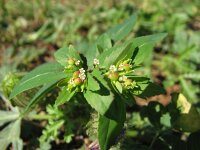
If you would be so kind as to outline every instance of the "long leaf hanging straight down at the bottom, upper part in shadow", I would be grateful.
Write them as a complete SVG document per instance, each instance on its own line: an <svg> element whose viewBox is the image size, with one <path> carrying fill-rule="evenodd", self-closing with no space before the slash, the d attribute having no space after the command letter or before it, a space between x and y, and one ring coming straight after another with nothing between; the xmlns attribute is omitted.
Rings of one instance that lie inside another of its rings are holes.
<svg viewBox="0 0 200 150"><path fill-rule="evenodd" d="M98 140L101 150L108 150L119 140L126 118L125 105L122 99L116 96L110 112L114 112L115 120L99 115Z"/></svg>

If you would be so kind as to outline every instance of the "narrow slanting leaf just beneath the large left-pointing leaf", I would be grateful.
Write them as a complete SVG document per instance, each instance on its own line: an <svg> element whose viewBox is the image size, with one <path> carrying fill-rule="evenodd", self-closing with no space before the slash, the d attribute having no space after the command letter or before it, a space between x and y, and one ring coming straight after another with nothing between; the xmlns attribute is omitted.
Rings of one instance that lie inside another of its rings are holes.
<svg viewBox="0 0 200 150"><path fill-rule="evenodd" d="M28 105L26 106L25 110L24 110L24 114L29 112L30 109L35 105L37 104L41 98L47 94L48 92L50 92L57 84L57 81L55 82L52 82L52 83L49 83L49 84L46 84L44 85L36 94L35 96L30 100L30 102L28 103Z"/></svg>

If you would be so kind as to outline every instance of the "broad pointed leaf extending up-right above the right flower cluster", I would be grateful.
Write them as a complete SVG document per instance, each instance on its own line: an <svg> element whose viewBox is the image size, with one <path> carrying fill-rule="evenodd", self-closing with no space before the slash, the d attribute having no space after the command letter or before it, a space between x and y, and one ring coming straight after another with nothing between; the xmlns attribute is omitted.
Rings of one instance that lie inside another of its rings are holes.
<svg viewBox="0 0 200 150"><path fill-rule="evenodd" d="M134 56L134 62L136 64L141 64L149 57L153 46L165 36L165 33L154 34L134 38L121 45L115 45L98 56L100 65L109 67L112 64L116 64L121 59L128 59L136 54L137 55ZM135 52L135 49L139 49L137 53Z"/></svg>

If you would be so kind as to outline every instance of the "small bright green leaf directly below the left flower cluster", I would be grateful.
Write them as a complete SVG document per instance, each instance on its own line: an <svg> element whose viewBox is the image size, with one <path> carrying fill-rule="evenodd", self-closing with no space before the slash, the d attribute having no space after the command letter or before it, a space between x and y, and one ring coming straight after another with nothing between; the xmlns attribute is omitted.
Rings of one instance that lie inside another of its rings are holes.
<svg viewBox="0 0 200 150"><path fill-rule="evenodd" d="M61 90L61 92L59 93L59 95L56 99L55 105L59 106L59 105L62 105L64 103L68 102L74 96L75 93L76 93L76 90L68 91L67 87L64 87Z"/></svg>

